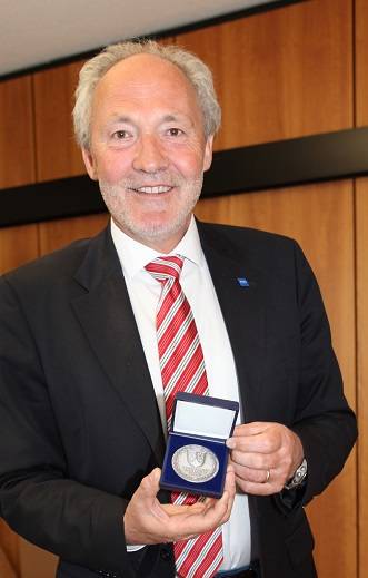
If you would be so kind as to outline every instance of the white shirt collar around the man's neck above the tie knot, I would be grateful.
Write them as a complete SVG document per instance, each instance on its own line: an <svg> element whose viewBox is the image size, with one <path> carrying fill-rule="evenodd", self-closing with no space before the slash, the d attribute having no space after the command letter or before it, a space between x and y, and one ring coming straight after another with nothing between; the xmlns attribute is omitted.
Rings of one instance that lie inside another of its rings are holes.
<svg viewBox="0 0 368 578"><path fill-rule="evenodd" d="M156 257L165 255L165 253L158 253L147 245L129 237L129 235L123 233L116 225L112 218L110 223L112 241L125 275L133 277L138 272L142 271L148 263L153 261ZM185 236L170 252L170 255L181 255L197 266L203 264L205 256L193 216L190 219Z"/></svg>

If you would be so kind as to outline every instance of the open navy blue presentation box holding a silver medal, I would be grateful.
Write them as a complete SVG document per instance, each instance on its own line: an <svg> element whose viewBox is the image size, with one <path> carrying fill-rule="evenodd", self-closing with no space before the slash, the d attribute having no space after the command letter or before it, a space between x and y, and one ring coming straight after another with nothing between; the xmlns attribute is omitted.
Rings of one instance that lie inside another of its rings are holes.
<svg viewBox="0 0 368 578"><path fill-rule="evenodd" d="M238 411L236 401L177 393L161 488L220 498L229 454L226 440L233 432Z"/></svg>

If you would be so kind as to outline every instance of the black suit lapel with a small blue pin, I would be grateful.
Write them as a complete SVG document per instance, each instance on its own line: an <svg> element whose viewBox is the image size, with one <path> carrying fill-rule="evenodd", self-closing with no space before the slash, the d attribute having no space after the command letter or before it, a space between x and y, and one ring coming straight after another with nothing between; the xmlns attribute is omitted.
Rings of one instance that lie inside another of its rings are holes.
<svg viewBox="0 0 368 578"><path fill-rule="evenodd" d="M265 360L262 275L250 267L245 251L221 238L219 229L212 235L213 229L198 226L233 352L245 421L255 421Z"/></svg>

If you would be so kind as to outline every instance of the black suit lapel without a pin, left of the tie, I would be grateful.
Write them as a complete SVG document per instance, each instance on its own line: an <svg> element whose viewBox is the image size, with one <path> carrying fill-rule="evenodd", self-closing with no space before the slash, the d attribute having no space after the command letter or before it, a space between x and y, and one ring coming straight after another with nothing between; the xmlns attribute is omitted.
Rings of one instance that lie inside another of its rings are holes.
<svg viewBox="0 0 368 578"><path fill-rule="evenodd" d="M76 281L87 290L72 302L87 340L160 464L165 441L153 385L108 229L92 239Z"/></svg>

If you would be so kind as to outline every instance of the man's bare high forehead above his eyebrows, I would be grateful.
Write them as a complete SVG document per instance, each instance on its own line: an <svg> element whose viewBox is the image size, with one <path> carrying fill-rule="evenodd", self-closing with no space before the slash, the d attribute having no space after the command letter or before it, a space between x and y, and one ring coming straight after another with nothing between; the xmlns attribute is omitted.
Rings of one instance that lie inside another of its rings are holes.
<svg viewBox="0 0 368 578"><path fill-rule="evenodd" d="M113 106L135 105L177 108L201 117L196 89L186 75L176 65L153 55L135 55L121 60L96 87L95 114Z"/></svg>

